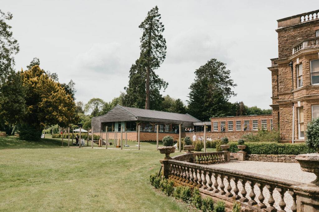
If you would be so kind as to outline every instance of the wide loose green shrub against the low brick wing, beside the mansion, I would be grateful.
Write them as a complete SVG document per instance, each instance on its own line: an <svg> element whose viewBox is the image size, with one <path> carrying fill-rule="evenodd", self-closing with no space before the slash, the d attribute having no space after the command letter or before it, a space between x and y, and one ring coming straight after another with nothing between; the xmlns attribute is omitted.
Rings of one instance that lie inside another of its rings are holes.
<svg viewBox="0 0 319 212"><path fill-rule="evenodd" d="M249 133L242 136L246 142L279 142L280 133L277 130L260 130L256 134Z"/></svg>

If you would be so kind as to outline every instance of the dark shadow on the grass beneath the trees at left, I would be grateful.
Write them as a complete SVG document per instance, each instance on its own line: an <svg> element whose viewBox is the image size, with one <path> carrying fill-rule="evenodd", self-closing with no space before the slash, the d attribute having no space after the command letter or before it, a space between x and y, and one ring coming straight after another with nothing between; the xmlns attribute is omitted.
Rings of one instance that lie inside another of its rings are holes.
<svg viewBox="0 0 319 212"><path fill-rule="evenodd" d="M63 142L63 147L68 146L68 141ZM71 146L71 142L70 142ZM44 139L41 138L38 141L27 141L20 140L19 138L13 137L1 137L0 138L0 149L34 149L34 148L59 148L62 147L62 140L56 139Z"/></svg>

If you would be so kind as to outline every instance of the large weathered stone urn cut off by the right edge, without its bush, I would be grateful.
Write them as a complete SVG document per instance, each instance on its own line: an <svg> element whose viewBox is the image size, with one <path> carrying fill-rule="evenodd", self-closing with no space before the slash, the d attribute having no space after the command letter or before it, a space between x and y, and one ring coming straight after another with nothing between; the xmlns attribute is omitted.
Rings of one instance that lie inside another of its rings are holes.
<svg viewBox="0 0 319 212"><path fill-rule="evenodd" d="M319 186L319 153L298 154L296 160L302 171L314 173L317 179L310 182L309 186ZM312 184L312 185L311 185Z"/></svg>

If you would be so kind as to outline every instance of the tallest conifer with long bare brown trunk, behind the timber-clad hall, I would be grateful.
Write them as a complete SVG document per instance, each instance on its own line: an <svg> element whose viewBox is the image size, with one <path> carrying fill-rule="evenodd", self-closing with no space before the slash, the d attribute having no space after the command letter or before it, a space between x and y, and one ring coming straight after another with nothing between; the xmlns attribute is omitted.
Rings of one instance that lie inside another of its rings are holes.
<svg viewBox="0 0 319 212"><path fill-rule="evenodd" d="M157 77L154 70L159 68L166 57L166 40L161 34L164 31L164 25L160 22L161 16L158 7L155 6L147 13L145 20L138 26L143 31L140 38L140 62L146 67L146 96L145 109L150 109L151 91L150 79L151 74Z"/></svg>

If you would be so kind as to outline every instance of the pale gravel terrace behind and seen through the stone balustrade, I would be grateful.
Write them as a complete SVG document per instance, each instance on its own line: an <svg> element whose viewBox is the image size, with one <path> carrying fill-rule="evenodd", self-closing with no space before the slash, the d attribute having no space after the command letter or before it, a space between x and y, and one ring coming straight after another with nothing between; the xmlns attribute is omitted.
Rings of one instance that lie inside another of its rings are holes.
<svg viewBox="0 0 319 212"><path fill-rule="evenodd" d="M308 183L314 181L316 179L315 174L308 173L301 171L299 163L276 163L276 162L261 162L261 161L236 161L236 162L229 162L229 163L221 163L221 164L214 164L210 165L211 167L221 167L221 168L229 168L234 170L241 170L250 173L256 174L263 174L272 177L278 177L286 180L298 181L302 183ZM218 183L220 183L220 178L218 178ZM224 179L224 185L228 184L227 181ZM234 181L230 182L232 188L234 188L235 184ZM238 189L242 190L241 183L238 183ZM250 193L250 187L248 184L245 185L245 189L247 194ZM234 194L234 192L232 191ZM258 196L260 194L259 188L255 185L254 186L254 193L256 194L255 201L259 202ZM241 194L240 194L241 195ZM263 196L265 200L263 201L264 204L269 206L268 199L269 199L269 191L267 188L263 189ZM275 200L274 207L280 210L278 203L280 202L280 194L275 189L273 192L273 198ZM250 200L250 197L248 197ZM284 201L286 203L285 211L291 211L291 206L293 203L292 196L286 192L284 195Z"/></svg>

